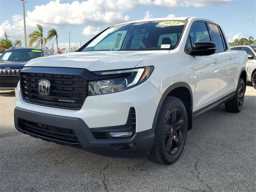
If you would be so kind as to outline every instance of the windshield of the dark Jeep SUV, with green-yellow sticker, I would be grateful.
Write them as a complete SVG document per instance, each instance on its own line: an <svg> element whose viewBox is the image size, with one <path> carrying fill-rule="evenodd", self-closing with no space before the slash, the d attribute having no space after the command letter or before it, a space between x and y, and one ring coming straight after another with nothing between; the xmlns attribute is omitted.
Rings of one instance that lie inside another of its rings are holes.
<svg viewBox="0 0 256 192"><path fill-rule="evenodd" d="M28 61L42 56L42 50L8 50L0 56L5 61Z"/></svg>

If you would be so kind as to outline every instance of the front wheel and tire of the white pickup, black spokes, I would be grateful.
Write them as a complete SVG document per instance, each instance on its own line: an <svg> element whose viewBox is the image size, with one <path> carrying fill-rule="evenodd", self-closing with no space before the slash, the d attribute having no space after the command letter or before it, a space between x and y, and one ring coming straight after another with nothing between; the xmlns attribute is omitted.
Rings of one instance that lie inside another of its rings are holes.
<svg viewBox="0 0 256 192"><path fill-rule="evenodd" d="M187 130L188 116L182 100L166 97L158 115L155 141L148 159L159 164L172 164L182 153Z"/></svg>

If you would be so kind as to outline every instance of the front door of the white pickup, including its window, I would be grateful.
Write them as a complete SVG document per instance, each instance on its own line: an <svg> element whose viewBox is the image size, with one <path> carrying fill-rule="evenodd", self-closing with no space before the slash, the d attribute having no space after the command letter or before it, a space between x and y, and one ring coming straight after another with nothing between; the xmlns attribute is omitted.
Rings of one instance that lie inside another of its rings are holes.
<svg viewBox="0 0 256 192"><path fill-rule="evenodd" d="M206 22L194 22L185 50L192 49L195 42L212 41ZM195 80L194 111L214 102L219 96L220 63L216 55L190 56Z"/></svg>

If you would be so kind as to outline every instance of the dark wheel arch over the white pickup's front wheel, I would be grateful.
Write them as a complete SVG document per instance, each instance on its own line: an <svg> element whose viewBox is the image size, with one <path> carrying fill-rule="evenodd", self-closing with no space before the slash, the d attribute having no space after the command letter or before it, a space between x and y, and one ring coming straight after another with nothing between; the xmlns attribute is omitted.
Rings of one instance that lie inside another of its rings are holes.
<svg viewBox="0 0 256 192"><path fill-rule="evenodd" d="M174 96L174 97L177 97L180 100L182 100L182 102L184 103L186 110L187 110L188 130L190 130L192 128L192 122L193 122L193 94L192 94L190 85L186 82L174 83L165 90L164 94L162 94L162 97L161 97L160 102L158 103L158 107L156 109L156 114L154 116L152 128L154 130L156 128L156 122L158 119L160 109L161 109L162 104L167 96Z"/></svg>

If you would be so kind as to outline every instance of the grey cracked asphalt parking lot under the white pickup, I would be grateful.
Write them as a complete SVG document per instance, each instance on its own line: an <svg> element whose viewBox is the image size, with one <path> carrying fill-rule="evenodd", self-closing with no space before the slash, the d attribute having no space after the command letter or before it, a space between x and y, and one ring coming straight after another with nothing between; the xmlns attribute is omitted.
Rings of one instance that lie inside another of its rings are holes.
<svg viewBox="0 0 256 192"><path fill-rule="evenodd" d="M170 166L106 158L45 142L14 128L14 92L0 91L0 191L256 191L256 90L242 112L224 105L194 118Z"/></svg>

